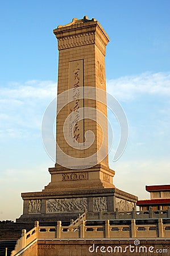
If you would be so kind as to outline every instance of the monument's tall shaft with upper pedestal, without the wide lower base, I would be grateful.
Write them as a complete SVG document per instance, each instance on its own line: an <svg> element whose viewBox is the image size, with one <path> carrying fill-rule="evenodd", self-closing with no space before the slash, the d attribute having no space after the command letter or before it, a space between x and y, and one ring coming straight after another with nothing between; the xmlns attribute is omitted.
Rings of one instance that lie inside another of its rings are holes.
<svg viewBox="0 0 170 256"><path fill-rule="evenodd" d="M65 189L114 187L107 138L105 55L109 37L98 21L87 16L74 18L53 32L59 49L57 148L55 168L49 168L51 183L45 189L63 188L61 181L66 181ZM89 147L88 139L93 142Z"/></svg>

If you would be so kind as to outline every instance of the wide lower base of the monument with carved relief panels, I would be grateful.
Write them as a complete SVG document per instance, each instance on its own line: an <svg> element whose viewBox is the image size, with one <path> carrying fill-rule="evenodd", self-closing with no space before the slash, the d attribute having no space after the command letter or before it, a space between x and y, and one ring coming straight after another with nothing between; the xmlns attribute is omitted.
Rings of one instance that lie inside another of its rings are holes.
<svg viewBox="0 0 170 256"><path fill-rule="evenodd" d="M116 208L120 211L132 210L138 200L138 197L117 188L44 190L22 193L22 198L23 214L16 222L70 222L85 211L113 212Z"/></svg>

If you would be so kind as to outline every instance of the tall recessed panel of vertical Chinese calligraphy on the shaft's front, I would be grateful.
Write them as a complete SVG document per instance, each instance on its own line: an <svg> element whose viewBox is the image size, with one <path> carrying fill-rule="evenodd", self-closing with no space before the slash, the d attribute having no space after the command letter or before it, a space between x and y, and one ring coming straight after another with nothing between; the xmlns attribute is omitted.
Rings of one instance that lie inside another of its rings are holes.
<svg viewBox="0 0 170 256"><path fill-rule="evenodd" d="M84 106L82 99L82 91L80 87L84 85L84 68L83 60L69 62L69 89L73 89L70 93L69 104L69 141L84 142L84 121L81 108ZM81 99L80 99L81 98Z"/></svg>

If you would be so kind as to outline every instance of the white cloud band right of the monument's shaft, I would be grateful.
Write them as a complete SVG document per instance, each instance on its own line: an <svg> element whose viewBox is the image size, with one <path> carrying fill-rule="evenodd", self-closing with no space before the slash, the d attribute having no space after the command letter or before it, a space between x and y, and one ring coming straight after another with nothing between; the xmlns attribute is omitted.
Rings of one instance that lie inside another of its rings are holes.
<svg viewBox="0 0 170 256"><path fill-rule="evenodd" d="M107 81L107 92L118 100L130 100L142 93L167 96L170 95L170 73L146 72L112 79Z"/></svg>

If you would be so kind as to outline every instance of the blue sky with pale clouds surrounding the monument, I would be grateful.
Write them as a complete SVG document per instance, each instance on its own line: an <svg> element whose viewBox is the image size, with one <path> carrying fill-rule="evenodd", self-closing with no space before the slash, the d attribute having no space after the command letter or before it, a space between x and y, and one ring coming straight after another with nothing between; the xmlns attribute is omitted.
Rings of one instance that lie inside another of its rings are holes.
<svg viewBox="0 0 170 256"><path fill-rule="evenodd" d="M107 91L125 110L129 138L110 168L114 184L148 198L145 185L169 183L169 9L161 1L3 1L0 10L0 219L22 214L21 192L40 191L54 163L41 139L45 108L56 95L57 40L53 29L84 15L96 18L110 42ZM55 148L54 148L55 150Z"/></svg>

